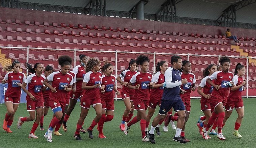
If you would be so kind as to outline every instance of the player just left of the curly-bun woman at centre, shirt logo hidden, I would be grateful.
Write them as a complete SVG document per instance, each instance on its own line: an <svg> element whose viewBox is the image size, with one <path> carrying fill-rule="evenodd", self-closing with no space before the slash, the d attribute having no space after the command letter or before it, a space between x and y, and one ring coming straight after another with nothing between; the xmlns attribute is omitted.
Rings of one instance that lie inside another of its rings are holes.
<svg viewBox="0 0 256 148"><path fill-rule="evenodd" d="M127 124L133 116L134 106L133 106L133 95L134 89L128 88L128 84L134 74L137 73L137 64L136 60L131 60L129 66L126 70L122 71L121 74L117 77L117 81L123 85L122 88L122 100L125 104L125 111L123 114L123 119L120 124L121 131L125 130L125 124ZM122 80L124 79L124 80Z"/></svg>

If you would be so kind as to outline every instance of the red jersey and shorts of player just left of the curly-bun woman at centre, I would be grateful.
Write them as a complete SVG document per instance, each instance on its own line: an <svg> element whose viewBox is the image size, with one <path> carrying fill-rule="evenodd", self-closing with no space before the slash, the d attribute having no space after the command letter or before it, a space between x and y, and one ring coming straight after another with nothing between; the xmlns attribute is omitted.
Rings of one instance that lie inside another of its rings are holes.
<svg viewBox="0 0 256 148"><path fill-rule="evenodd" d="M138 73L138 72L137 71L132 72L128 69L128 70L122 71L122 73L119 76L120 76L120 78L124 78L124 82L129 83L132 76L136 73ZM123 86L123 88L122 88L122 93L124 93L124 94L133 95L134 91L135 91L134 89L130 89L127 86Z"/></svg>

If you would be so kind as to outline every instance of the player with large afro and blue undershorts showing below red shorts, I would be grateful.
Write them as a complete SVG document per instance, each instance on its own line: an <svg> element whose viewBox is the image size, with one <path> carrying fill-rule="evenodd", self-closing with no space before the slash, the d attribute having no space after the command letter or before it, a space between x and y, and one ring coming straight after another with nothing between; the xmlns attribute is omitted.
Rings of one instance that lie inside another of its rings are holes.
<svg viewBox="0 0 256 148"><path fill-rule="evenodd" d="M54 118L50 123L50 127L44 134L44 138L48 142L52 142L53 128L59 123L63 116L63 111L67 101L67 92L72 90L73 77L68 73L70 65L72 64L72 58L64 55L58 58L61 70L53 72L44 80L44 85L51 89L51 95L49 98L49 104L54 113ZM52 82L52 85L49 84Z"/></svg>

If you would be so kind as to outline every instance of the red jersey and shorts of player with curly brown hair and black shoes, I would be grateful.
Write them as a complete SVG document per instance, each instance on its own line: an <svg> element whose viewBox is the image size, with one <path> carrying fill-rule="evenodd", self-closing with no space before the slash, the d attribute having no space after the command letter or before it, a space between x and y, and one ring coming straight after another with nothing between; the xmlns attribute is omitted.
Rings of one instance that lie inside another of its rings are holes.
<svg viewBox="0 0 256 148"><path fill-rule="evenodd" d="M92 72L89 71L85 74L83 82L87 83L87 86L93 86L96 84L101 84L101 72ZM99 88L92 88L92 89L85 89L85 93L83 95L83 98L85 99L95 99L100 97L100 90Z"/></svg>

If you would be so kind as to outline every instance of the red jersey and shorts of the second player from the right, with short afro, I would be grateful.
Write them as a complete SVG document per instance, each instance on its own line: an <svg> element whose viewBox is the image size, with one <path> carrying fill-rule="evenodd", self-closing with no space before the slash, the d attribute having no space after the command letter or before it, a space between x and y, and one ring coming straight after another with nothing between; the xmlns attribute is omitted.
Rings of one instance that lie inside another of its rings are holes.
<svg viewBox="0 0 256 148"><path fill-rule="evenodd" d="M212 95L215 98L220 98L220 99L227 99L228 96L228 90L229 90L229 85L228 82L230 82L234 77L234 74L231 72L222 72L222 71L217 71L214 72L209 78L211 80L215 80L214 84L215 85L221 85L221 88L213 89Z"/></svg>

